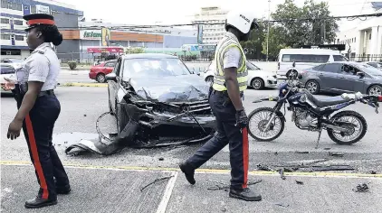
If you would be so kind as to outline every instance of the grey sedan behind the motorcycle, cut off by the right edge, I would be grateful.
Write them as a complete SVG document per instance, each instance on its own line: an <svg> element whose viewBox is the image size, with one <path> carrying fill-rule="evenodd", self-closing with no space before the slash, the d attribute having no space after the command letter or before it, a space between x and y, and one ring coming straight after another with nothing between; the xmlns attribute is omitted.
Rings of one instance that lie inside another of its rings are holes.
<svg viewBox="0 0 382 213"><path fill-rule="evenodd" d="M382 95L382 70L365 63L338 61L304 69L302 83L311 94L320 92Z"/></svg>

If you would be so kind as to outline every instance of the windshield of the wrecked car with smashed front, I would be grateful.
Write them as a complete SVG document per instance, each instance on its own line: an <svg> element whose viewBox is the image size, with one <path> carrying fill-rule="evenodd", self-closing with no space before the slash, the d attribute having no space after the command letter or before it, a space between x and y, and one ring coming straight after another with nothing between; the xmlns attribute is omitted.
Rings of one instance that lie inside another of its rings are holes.
<svg viewBox="0 0 382 213"><path fill-rule="evenodd" d="M128 59L123 63L123 80L142 77L167 77L190 75L186 65L179 59Z"/></svg>

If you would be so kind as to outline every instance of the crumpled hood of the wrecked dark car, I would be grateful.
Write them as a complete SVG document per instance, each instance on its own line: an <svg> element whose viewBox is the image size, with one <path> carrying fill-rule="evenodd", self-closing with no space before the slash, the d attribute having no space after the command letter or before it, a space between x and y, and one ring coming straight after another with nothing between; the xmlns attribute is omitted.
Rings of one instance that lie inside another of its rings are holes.
<svg viewBox="0 0 382 213"><path fill-rule="evenodd" d="M153 102L194 102L208 98L209 86L197 75L131 78L138 97Z"/></svg>

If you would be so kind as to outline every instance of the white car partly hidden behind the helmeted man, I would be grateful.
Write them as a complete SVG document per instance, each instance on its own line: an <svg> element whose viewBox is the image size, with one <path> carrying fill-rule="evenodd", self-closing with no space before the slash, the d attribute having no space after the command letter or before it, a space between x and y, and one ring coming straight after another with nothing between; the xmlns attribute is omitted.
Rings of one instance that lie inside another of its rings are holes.
<svg viewBox="0 0 382 213"><path fill-rule="evenodd" d="M204 72L200 73L200 77L205 79L205 82L211 84L214 81L215 73L214 60L208 65ZM277 87L276 75L270 71L265 71L256 67L253 63L247 60L248 82L247 85L254 89L275 88Z"/></svg>

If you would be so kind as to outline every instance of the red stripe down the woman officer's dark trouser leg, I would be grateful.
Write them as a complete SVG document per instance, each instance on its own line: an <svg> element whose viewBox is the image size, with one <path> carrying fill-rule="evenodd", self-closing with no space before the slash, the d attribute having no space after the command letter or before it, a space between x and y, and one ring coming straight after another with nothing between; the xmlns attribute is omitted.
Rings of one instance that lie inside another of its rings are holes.
<svg viewBox="0 0 382 213"><path fill-rule="evenodd" d="M49 196L48 186L46 185L45 176L43 176L43 167L41 166L40 158L38 156L36 140L34 138L34 133L33 133L33 125L31 121L31 117L29 115L25 117L25 125L26 125L26 131L28 132L29 145L31 147L34 168L36 169L37 176L40 180L40 187L43 189L42 199L48 199L48 196Z"/></svg>

